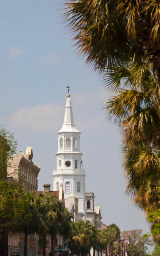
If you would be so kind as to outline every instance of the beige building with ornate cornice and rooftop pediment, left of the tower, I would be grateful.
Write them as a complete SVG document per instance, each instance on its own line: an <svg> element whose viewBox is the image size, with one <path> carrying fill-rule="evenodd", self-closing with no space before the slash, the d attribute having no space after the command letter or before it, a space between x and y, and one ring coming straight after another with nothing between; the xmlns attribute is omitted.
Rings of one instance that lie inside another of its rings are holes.
<svg viewBox="0 0 160 256"><path fill-rule="evenodd" d="M13 161L10 167L7 168L7 179L13 179L15 182L21 182L25 191L37 191L37 177L40 172L40 164L36 166L32 162L33 152L32 147L26 148L26 153L22 153L13 156ZM37 234L29 235L27 246L28 256L38 255L38 241ZM8 237L8 255L18 252L19 255L23 255L24 252L24 234L17 233Z"/></svg>

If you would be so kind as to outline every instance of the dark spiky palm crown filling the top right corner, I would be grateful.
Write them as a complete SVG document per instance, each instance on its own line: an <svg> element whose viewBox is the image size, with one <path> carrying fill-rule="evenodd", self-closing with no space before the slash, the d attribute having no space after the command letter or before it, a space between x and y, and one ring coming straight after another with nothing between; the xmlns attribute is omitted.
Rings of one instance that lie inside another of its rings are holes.
<svg viewBox="0 0 160 256"><path fill-rule="evenodd" d="M146 58L160 77L160 5L155 0L67 0L64 19L95 69Z"/></svg>

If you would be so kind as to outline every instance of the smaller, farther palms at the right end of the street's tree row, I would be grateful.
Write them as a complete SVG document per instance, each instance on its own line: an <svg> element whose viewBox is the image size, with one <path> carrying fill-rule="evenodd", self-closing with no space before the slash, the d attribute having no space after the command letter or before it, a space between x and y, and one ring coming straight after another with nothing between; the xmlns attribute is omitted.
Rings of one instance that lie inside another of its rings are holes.
<svg viewBox="0 0 160 256"><path fill-rule="evenodd" d="M120 244L117 239L120 237L120 229L115 224L107 226L106 229L97 230L88 220L72 222L69 237L69 248L71 255L87 255L93 248L93 256L95 251L102 256L102 250L107 251L107 255L120 253Z"/></svg>

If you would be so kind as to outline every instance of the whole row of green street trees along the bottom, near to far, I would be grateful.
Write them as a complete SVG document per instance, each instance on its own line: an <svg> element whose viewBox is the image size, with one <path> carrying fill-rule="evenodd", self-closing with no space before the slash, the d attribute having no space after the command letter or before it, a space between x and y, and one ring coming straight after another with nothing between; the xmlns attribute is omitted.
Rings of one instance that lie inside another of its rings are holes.
<svg viewBox="0 0 160 256"><path fill-rule="evenodd" d="M72 215L62 206L56 196L50 193L23 192L15 182L0 181L0 230L2 255L7 255L7 237L17 232L24 234L24 256L27 256L27 238L37 233L42 238L42 255L46 255L46 239L50 235L51 256L55 255L57 234L68 242L71 255L87 255L90 248L101 251L119 252L115 241L120 230L112 224L104 230L97 230L88 220L72 222ZM108 254L109 255L109 254Z"/></svg>

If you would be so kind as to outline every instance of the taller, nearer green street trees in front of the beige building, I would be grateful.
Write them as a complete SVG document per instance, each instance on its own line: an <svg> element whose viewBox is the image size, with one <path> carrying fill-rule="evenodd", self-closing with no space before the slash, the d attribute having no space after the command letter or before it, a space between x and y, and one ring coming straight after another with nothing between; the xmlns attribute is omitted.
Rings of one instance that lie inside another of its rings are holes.
<svg viewBox="0 0 160 256"><path fill-rule="evenodd" d="M28 234L38 233L43 238L45 256L46 236L51 236L51 255L55 254L57 233L64 237L69 233L71 215L61 202L49 193L23 192L15 182L0 181L0 230L2 255L7 255L7 236L24 233L24 256L27 256Z"/></svg>

